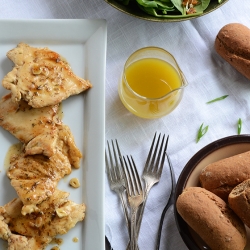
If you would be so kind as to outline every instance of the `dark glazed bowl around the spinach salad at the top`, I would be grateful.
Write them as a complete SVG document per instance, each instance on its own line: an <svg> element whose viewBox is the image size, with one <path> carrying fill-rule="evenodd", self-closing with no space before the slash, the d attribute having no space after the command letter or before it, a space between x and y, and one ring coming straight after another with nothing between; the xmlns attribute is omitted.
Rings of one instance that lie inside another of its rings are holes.
<svg viewBox="0 0 250 250"><path fill-rule="evenodd" d="M148 21L154 21L154 22L180 22L180 21L186 21L186 20L191 20L203 15L206 15L218 8L220 8L224 3L226 3L228 0L223 0L221 3L218 3L216 0L212 0L212 2L209 4L208 8L202 13L201 15L198 16L190 16L190 17L183 17L183 18L163 18L163 17L155 17L151 16L145 12L143 12L138 6L137 3L131 2L129 5L125 6L121 4L118 0L104 0L114 8L120 10L123 13L126 13L130 16L136 17L136 18L141 18L144 20Z"/></svg>

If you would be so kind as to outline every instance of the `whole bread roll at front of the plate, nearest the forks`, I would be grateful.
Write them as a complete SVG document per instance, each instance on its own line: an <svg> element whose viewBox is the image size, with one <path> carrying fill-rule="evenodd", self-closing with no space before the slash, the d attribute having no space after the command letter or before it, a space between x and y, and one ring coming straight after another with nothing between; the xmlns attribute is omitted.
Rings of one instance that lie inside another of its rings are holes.
<svg viewBox="0 0 250 250"><path fill-rule="evenodd" d="M211 250L244 249L245 226L218 196L201 187L189 187L178 197L176 208Z"/></svg>

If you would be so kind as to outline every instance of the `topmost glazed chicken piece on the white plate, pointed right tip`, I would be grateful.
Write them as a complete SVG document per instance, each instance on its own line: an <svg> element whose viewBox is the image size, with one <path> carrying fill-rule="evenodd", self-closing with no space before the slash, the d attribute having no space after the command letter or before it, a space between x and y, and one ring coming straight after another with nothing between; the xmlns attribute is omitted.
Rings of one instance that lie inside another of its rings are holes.
<svg viewBox="0 0 250 250"><path fill-rule="evenodd" d="M34 48L19 43L7 53L15 67L2 81L11 90L12 100L24 99L34 108L60 103L71 95L92 87L76 76L62 57L48 48Z"/></svg>

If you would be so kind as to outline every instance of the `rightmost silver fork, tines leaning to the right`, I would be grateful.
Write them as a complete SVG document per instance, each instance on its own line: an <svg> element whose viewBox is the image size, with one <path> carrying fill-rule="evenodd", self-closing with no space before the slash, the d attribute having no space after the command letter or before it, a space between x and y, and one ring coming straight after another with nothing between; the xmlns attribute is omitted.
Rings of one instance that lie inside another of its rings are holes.
<svg viewBox="0 0 250 250"><path fill-rule="evenodd" d="M146 160L146 164L142 173L142 179L145 182L145 189L144 189L144 202L139 210L139 216L137 220L137 234L139 235L142 216L144 212L144 208L146 205L147 197L149 194L150 189L159 182L161 178L162 169L164 166L167 145L168 145L168 138L165 139L165 135L163 135L161 143L160 143L161 134L159 134L156 145L156 133L154 135L149 154ZM159 144L160 143L160 144Z"/></svg>

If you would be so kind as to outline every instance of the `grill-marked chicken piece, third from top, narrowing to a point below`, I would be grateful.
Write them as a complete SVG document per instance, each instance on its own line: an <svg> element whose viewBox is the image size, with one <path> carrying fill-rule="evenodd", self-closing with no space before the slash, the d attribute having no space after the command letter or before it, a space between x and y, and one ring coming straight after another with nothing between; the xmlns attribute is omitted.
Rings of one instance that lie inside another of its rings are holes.
<svg viewBox="0 0 250 250"><path fill-rule="evenodd" d="M70 173L71 164L60 152L50 158L23 153L12 157L7 176L24 205L22 214L39 211L37 205L51 197L58 181Z"/></svg>

